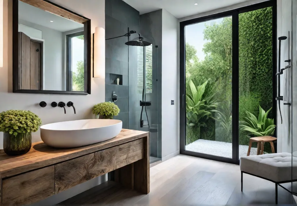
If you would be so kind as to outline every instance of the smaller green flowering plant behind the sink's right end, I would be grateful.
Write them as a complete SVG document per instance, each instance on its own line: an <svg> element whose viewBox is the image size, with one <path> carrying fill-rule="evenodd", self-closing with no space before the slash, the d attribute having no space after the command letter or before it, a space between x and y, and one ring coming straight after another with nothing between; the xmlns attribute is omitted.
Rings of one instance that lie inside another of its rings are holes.
<svg viewBox="0 0 297 206"><path fill-rule="evenodd" d="M113 119L113 116L119 115L120 109L113 102L102 102L94 105L92 111L99 119Z"/></svg>

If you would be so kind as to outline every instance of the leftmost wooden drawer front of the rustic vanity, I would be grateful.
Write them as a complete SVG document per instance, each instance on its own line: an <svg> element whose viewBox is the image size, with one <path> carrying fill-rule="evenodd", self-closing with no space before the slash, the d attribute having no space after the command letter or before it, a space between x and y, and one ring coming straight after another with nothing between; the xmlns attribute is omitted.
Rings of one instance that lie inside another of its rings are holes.
<svg viewBox="0 0 297 206"><path fill-rule="evenodd" d="M27 205L55 194L55 167L2 180L2 205Z"/></svg>

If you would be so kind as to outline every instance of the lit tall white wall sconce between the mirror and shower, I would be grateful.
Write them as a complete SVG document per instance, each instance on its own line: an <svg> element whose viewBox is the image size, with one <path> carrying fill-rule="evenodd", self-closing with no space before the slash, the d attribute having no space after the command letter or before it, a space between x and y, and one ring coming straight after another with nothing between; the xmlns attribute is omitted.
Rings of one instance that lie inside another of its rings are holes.
<svg viewBox="0 0 297 206"><path fill-rule="evenodd" d="M93 33L93 77L105 78L105 30L96 27Z"/></svg>

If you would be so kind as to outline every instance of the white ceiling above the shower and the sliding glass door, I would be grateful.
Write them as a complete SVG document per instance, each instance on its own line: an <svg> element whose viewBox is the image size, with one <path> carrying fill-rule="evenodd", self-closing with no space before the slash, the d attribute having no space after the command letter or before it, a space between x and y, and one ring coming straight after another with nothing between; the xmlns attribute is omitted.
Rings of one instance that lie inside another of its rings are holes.
<svg viewBox="0 0 297 206"><path fill-rule="evenodd" d="M249 0L123 0L140 14L166 9L176 18L183 18ZM198 5L194 5L198 3Z"/></svg>

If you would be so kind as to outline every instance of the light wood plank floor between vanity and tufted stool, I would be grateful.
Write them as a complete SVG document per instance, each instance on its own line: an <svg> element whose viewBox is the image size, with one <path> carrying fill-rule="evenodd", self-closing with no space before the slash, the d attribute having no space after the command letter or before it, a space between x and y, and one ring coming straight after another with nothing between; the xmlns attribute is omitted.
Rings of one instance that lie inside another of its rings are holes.
<svg viewBox="0 0 297 206"><path fill-rule="evenodd" d="M108 181L59 205L274 205L274 183L247 174L243 181L241 193L238 165L178 155L150 168L148 195ZM281 187L278 197L279 205L296 205Z"/></svg>

